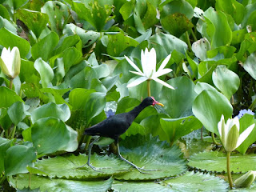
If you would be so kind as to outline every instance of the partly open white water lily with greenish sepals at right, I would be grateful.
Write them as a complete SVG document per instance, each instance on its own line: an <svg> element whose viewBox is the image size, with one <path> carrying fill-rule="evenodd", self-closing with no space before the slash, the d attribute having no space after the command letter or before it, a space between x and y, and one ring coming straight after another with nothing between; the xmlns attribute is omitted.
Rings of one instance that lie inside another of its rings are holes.
<svg viewBox="0 0 256 192"><path fill-rule="evenodd" d="M221 121L218 122L218 133L225 150L231 152L238 148L254 129L254 125L249 126L242 134L239 134L240 124L238 118L229 118L225 124L224 115L222 114Z"/></svg>

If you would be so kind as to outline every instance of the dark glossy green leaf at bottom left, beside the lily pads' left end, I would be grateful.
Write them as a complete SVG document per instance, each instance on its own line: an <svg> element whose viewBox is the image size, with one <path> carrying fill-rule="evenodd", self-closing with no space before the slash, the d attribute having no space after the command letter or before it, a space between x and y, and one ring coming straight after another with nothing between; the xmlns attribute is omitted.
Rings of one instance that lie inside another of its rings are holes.
<svg viewBox="0 0 256 192"><path fill-rule="evenodd" d="M32 146L11 146L6 150L6 176L27 173L26 166L32 166L36 157L36 150Z"/></svg>

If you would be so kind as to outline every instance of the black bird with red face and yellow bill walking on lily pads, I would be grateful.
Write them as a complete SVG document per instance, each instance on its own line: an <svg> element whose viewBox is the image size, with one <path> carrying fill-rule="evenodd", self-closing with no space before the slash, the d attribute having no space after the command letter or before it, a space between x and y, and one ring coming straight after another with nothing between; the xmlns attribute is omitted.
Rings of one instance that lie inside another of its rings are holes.
<svg viewBox="0 0 256 192"><path fill-rule="evenodd" d="M131 166L134 166L139 172L146 174L145 172L142 172L141 167L138 167L134 165L134 163L129 162L126 158L123 158L120 154L119 145L118 145L118 138L121 134L125 133L126 130L130 127L131 123L134 121L134 118L138 116L138 114L146 108L146 106L154 106L159 105L163 106L162 103L157 102L154 97L148 97L145 98L141 104L134 107L133 110L130 110L128 113L122 113L122 114L115 114L114 116L111 116L110 118L106 118L104 121L99 122L98 124L91 126L90 128L86 129L84 134L88 135L98 135L106 138L113 138L114 142L116 142L117 148L118 148L118 157L121 158L123 161L129 163ZM92 165L90 165L90 153L91 149L94 145L94 142L98 142L98 139L100 137L96 138L93 142L90 143L88 148L88 161L87 165L90 166L93 170L98 170L100 168L96 168Z"/></svg>

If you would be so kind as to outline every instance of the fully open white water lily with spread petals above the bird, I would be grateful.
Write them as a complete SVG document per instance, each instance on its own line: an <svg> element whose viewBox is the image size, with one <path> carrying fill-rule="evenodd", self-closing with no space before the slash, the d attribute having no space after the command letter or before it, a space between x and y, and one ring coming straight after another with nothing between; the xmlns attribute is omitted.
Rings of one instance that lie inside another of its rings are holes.
<svg viewBox="0 0 256 192"><path fill-rule="evenodd" d="M166 87L174 90L173 86L170 86L168 83L166 83L166 82L164 82L164 81L162 81L161 79L158 78L158 77L162 76L163 74L168 74L168 73L170 73L170 71L172 71L171 69L164 69L166 64L170 60L170 54L162 62L158 71L156 71L157 55L155 53L154 48L152 48L150 50L150 52L146 48L145 53L142 50L141 61L142 61L142 70L143 70L143 72L142 72L142 70L140 70L138 68L138 66L136 66L134 64L134 62L132 62L130 60L130 58L127 58L126 55L125 55L125 58L126 58L127 62L129 62L132 67L134 67L134 70L137 70L137 71L130 71L130 72L142 76L140 78L137 78L134 82L131 82L127 87L138 86L138 84L141 84L142 82L145 82L146 80L151 80L152 79L155 82L159 82L163 86L166 86Z"/></svg>

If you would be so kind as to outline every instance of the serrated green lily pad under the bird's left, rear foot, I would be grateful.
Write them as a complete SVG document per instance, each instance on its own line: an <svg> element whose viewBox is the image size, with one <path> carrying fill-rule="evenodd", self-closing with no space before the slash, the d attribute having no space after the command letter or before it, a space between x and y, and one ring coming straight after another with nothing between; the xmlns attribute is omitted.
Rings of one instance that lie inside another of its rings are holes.
<svg viewBox="0 0 256 192"><path fill-rule="evenodd" d="M106 169L101 169L100 171L91 169L86 162L86 154L79 154L78 156L71 154L67 157L58 156L38 160L35 163L35 167L46 172L50 178L68 179L106 178L107 176L123 174L130 170L130 166L126 162L119 160L114 154L110 156L93 154L90 156L91 165L98 168L106 167Z"/></svg>

